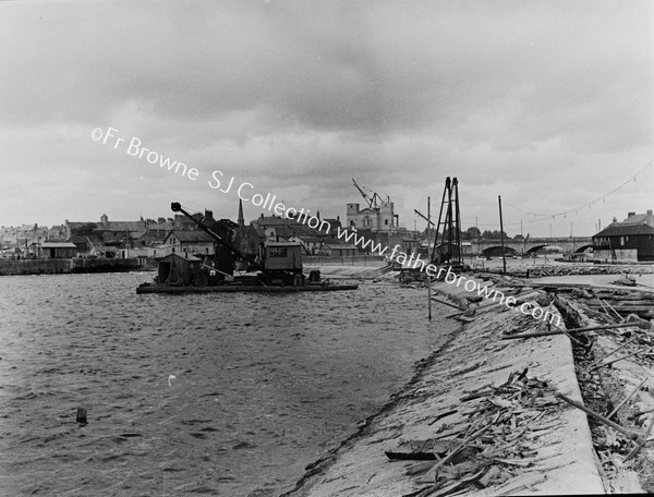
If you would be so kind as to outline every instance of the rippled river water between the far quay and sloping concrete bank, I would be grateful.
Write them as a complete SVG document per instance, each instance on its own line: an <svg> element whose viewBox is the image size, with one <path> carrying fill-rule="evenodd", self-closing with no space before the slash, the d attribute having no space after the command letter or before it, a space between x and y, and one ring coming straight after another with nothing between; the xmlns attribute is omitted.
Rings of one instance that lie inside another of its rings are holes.
<svg viewBox="0 0 654 497"><path fill-rule="evenodd" d="M152 278L0 278L1 495L279 495L453 329L424 290L136 295Z"/></svg>

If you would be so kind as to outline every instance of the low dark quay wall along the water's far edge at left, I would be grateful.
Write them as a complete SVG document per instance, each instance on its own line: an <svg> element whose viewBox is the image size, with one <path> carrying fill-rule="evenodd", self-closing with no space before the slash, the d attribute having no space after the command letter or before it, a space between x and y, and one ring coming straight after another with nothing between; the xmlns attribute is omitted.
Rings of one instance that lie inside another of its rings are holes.
<svg viewBox="0 0 654 497"><path fill-rule="evenodd" d="M20 259L0 260L0 276L114 272L146 269L141 259Z"/></svg>

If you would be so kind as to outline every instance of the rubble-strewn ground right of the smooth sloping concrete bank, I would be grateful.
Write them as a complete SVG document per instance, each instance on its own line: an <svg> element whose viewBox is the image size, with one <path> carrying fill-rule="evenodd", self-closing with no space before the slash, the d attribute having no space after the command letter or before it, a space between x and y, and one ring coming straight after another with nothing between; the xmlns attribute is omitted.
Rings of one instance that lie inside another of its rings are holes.
<svg viewBox="0 0 654 497"><path fill-rule="evenodd" d="M588 346L574 348L584 404L620 428L597 422L595 416L589 419L603 473L614 493L644 489L652 494L654 448L649 438L654 425L652 322L635 315L625 318L613 308L590 308L579 293L582 292L557 296L559 307L577 326L631 325L589 334Z"/></svg>

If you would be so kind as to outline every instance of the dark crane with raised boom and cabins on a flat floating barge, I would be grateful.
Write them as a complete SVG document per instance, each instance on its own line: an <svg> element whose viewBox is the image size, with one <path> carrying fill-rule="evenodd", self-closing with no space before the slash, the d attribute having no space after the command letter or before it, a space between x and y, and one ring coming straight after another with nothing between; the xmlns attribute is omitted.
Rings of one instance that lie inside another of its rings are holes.
<svg viewBox="0 0 654 497"><path fill-rule="evenodd" d="M266 242L256 257L238 250L228 237L220 237L197 218L173 202L171 209L191 219L198 229L218 244L214 260L193 254L175 253L159 258L155 283L143 283L136 293L211 293L211 292L306 292L355 290L356 284L335 284L320 281L319 271L302 272L302 246L291 242ZM243 260L250 272L233 276L233 263Z"/></svg>

